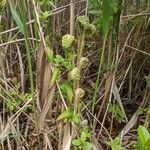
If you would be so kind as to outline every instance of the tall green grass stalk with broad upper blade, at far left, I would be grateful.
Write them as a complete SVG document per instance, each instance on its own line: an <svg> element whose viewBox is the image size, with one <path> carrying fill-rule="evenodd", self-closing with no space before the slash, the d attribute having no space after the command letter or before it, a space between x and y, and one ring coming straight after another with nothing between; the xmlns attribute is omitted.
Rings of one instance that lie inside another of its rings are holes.
<svg viewBox="0 0 150 150"><path fill-rule="evenodd" d="M19 13L16 11L16 7L12 3L11 0L9 0L9 5L10 5L10 10L13 16L13 19L15 20L16 24L18 25L21 33L23 34L25 38L25 48L26 48L26 54L27 54L27 61L28 61L28 69L29 69L29 80L30 80L30 91L31 91L31 98L33 99L34 97L34 81L33 81L33 71L32 71L32 61L31 61L31 52L30 52L30 47L29 47L29 41L28 41L28 29L26 25L26 10L25 10L25 0L19 1ZM37 117L37 112L36 112L36 107L35 107L35 101L33 102L33 111L34 111L34 119L36 123L36 130L38 133L38 144L39 147L40 145L40 138L39 138L39 125L38 125L38 117Z"/></svg>

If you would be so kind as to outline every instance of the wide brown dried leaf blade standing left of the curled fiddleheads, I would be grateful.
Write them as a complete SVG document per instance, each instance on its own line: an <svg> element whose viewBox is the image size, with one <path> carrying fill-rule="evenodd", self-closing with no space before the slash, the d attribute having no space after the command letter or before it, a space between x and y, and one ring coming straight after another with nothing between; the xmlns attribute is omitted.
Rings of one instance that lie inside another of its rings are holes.
<svg viewBox="0 0 150 150"><path fill-rule="evenodd" d="M48 114L47 119L51 118L51 104L55 92L55 87L49 87L51 79L51 67L50 64L47 62L43 46L41 46L38 56L37 85L39 92L39 108L41 111L39 124L40 128L43 128L46 115Z"/></svg>

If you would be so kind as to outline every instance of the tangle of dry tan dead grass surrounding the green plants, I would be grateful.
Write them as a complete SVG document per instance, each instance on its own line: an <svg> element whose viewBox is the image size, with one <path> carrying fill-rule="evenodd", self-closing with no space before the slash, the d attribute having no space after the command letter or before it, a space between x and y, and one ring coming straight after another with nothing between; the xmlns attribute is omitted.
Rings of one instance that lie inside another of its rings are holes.
<svg viewBox="0 0 150 150"><path fill-rule="evenodd" d="M88 14L87 3L63 0L43 7L34 0L25 0L34 83L32 96L25 38L13 20L9 3L4 2L0 10L0 149L70 150L71 140L79 137L79 128L86 126L90 128L94 150L108 149L106 142L117 135L124 148L131 149L137 140L138 125L149 128L146 113L138 113L139 108L149 108L150 97L145 78L150 72L150 4L146 1L142 4L123 1L124 7L117 16L119 21L116 17L106 41L94 107L101 31L97 29L92 38L85 40L83 56L88 54L90 65L77 83L85 90L80 102L80 126L57 121L61 112L70 107L60 89L67 74L64 70L50 87L54 65L47 61L45 49L50 46L55 54L64 55L61 38L67 33L77 36L76 18ZM15 4L18 8L17 1ZM52 14L42 20L42 11ZM94 15L89 16L94 20ZM17 104L12 103L10 110L8 102L13 101ZM119 104L125 122L113 118L110 103Z"/></svg>

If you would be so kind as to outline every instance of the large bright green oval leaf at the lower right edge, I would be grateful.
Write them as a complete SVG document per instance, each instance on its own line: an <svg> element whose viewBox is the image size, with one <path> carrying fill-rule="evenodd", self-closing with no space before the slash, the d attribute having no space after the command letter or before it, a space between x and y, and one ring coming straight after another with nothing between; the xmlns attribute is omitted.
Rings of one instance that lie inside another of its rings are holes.
<svg viewBox="0 0 150 150"><path fill-rule="evenodd" d="M138 135L143 145L150 139L150 133L141 125L138 127Z"/></svg>

